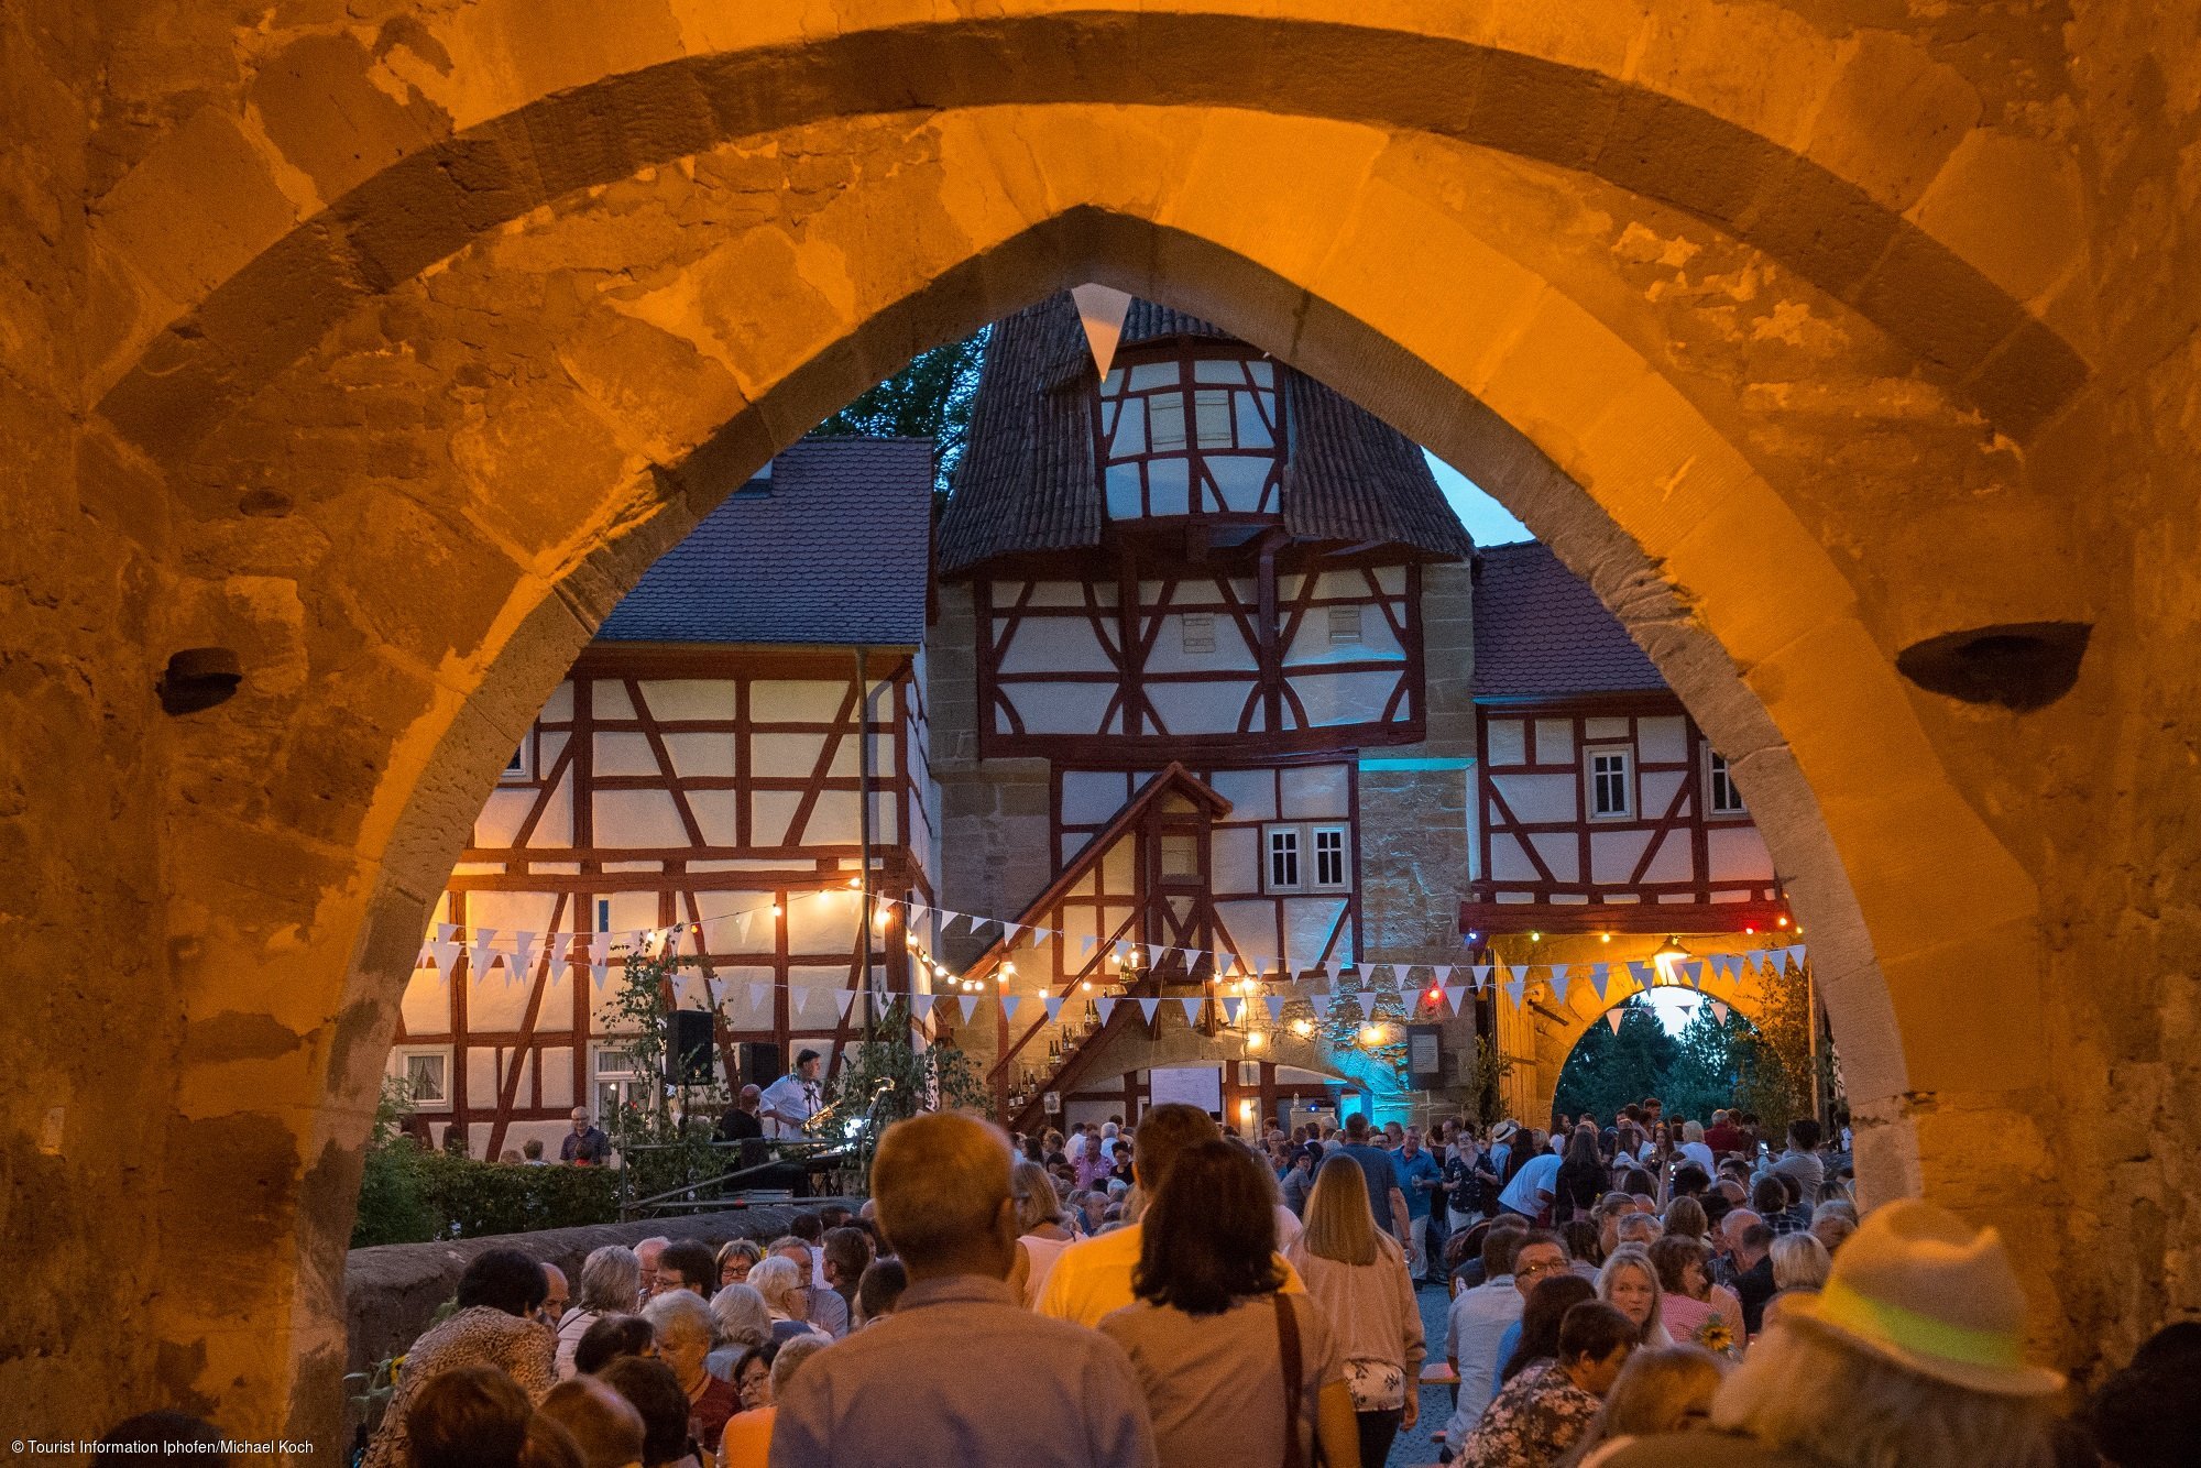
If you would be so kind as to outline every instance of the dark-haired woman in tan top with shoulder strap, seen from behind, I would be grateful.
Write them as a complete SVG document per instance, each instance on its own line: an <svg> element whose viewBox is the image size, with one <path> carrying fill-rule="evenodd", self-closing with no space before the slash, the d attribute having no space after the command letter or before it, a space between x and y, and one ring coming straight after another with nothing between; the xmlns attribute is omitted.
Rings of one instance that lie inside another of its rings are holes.
<svg viewBox="0 0 2201 1468"><path fill-rule="evenodd" d="M1345 1360L1323 1312L1283 1294L1277 1210L1259 1158L1195 1142L1140 1219L1136 1303L1100 1334L1131 1358L1164 1468L1358 1468Z"/></svg>

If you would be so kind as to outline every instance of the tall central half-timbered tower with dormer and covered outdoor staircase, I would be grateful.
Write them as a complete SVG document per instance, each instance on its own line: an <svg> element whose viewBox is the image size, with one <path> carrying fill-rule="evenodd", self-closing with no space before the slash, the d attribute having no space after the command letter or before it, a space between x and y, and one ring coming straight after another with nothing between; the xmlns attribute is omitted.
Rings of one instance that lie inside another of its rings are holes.
<svg viewBox="0 0 2201 1468"><path fill-rule="evenodd" d="M951 953L1065 1001L962 1028L1004 1116L1400 1089L1257 999L1457 955L1472 550L1420 449L1206 321L1134 302L1105 374L1070 297L995 328L929 656L942 902L1052 935Z"/></svg>

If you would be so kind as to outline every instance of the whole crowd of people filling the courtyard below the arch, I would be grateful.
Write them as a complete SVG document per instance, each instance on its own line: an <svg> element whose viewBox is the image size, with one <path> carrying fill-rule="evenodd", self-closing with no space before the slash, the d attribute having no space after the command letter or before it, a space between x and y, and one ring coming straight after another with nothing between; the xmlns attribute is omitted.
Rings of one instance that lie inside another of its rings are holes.
<svg viewBox="0 0 2201 1468"><path fill-rule="evenodd" d="M1382 1468L1424 1391L1470 1468L2190 1461L2201 1323L2065 1415L1994 1230L1860 1215L1809 1120L1776 1151L1657 1109L1259 1144L1186 1105L918 1116L861 1215L599 1248L570 1292L478 1255L365 1468Z"/></svg>

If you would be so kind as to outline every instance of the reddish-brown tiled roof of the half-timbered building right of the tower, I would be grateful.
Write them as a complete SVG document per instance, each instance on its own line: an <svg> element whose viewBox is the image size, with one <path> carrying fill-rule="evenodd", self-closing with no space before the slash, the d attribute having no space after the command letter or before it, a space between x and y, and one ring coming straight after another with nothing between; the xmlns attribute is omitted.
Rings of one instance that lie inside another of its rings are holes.
<svg viewBox="0 0 2201 1468"><path fill-rule="evenodd" d="M1475 698L1662 691L1651 658L1545 546L1486 546L1475 570Z"/></svg>

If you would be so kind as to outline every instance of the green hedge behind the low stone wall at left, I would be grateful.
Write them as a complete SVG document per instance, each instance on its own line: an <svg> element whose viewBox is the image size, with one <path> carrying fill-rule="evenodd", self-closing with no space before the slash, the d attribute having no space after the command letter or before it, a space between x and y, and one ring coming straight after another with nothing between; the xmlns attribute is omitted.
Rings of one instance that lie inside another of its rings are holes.
<svg viewBox="0 0 2201 1468"><path fill-rule="evenodd" d="M352 1248L616 1221L612 1169L475 1162L398 1138L368 1151Z"/></svg>

